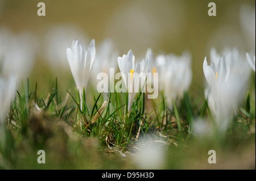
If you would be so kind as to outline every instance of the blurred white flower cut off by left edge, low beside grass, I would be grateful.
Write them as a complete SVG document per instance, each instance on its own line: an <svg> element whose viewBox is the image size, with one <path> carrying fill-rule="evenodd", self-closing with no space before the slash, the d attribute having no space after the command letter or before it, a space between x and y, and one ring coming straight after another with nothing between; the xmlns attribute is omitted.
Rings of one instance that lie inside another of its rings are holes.
<svg viewBox="0 0 256 181"><path fill-rule="evenodd" d="M9 78L0 77L0 123L5 120L6 113L15 95L15 89L16 80L14 76Z"/></svg>

